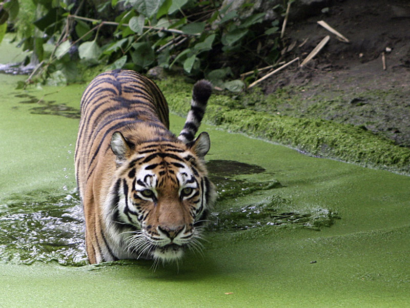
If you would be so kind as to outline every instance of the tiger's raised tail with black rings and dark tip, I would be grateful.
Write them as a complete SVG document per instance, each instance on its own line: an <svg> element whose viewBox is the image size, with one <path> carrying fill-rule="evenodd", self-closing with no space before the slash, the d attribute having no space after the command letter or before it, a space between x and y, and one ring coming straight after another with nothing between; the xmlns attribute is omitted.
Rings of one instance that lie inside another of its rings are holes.
<svg viewBox="0 0 410 308"><path fill-rule="evenodd" d="M184 143L194 140L195 134L201 125L207 102L211 96L212 85L208 80L202 79L197 81L192 90L191 110L188 113L187 120L180 132L178 139Z"/></svg>

